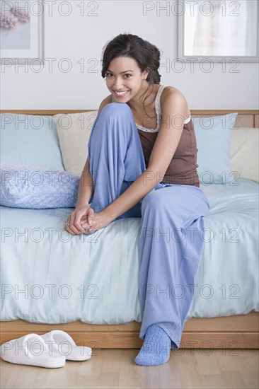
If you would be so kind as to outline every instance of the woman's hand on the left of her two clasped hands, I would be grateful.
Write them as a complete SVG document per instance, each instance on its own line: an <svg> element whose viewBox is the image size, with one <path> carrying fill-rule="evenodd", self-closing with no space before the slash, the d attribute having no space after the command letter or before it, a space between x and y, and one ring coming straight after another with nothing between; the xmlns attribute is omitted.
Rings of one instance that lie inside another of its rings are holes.
<svg viewBox="0 0 259 389"><path fill-rule="evenodd" d="M85 233L83 226L81 225L84 222L84 226L90 226L88 223L89 217L92 217L94 214L93 209L89 204L83 205L81 207L76 207L76 209L71 213L69 219L67 219L67 224L65 229L71 233L71 235L79 235L80 233Z"/></svg>

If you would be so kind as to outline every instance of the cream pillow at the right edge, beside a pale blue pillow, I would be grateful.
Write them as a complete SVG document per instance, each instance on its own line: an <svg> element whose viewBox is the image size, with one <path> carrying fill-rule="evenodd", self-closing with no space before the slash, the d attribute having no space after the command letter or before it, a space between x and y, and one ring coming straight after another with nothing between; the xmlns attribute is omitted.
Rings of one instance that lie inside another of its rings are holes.
<svg viewBox="0 0 259 389"><path fill-rule="evenodd" d="M229 149L230 163L232 171L237 171L240 178L259 182L258 149L259 128L233 129Z"/></svg>

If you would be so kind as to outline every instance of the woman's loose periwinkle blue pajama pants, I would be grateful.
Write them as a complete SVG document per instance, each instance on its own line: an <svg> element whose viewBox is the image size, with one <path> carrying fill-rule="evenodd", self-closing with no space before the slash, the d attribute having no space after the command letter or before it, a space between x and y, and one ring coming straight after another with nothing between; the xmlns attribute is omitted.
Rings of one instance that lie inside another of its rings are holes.
<svg viewBox="0 0 259 389"><path fill-rule="evenodd" d="M88 141L95 212L120 196L145 170L142 144L126 103L105 105ZM138 204L117 219L139 217L139 303L144 339L158 324L178 349L194 295L204 246L203 216L209 214L205 193L193 185L160 182Z"/></svg>

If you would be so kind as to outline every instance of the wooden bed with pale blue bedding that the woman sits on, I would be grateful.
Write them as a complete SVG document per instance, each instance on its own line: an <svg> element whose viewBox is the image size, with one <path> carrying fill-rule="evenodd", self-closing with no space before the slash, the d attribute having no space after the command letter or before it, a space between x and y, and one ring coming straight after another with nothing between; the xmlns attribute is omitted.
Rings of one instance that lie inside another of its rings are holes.
<svg viewBox="0 0 259 389"><path fill-rule="evenodd" d="M52 116L87 111L1 111L7 112ZM202 117L234 111L191 112ZM238 127L258 131L257 111L235 112ZM182 349L258 348L258 187L248 178L240 178L238 185L201 184L210 211L197 282L188 291L193 300ZM119 219L97 235L68 238L63 229L71 208L0 211L1 343L60 329L92 348L142 346L137 294L141 219Z"/></svg>

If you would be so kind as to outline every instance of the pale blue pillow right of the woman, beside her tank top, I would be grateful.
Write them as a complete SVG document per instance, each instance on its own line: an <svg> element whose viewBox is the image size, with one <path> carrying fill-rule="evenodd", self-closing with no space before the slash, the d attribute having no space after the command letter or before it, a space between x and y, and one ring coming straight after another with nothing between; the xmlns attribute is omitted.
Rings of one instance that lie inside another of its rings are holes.
<svg viewBox="0 0 259 389"><path fill-rule="evenodd" d="M238 112L221 116L192 117L197 141L197 173L203 185L231 182L229 147Z"/></svg>

